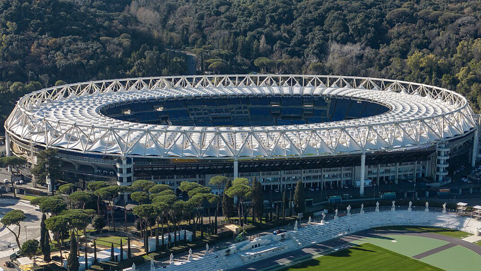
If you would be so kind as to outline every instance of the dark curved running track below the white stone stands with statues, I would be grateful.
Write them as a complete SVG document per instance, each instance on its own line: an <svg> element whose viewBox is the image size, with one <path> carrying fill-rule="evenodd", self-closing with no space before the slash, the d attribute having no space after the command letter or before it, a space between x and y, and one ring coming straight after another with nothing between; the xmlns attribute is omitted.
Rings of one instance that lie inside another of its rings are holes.
<svg viewBox="0 0 481 271"><path fill-rule="evenodd" d="M375 236L382 236L382 235L403 235L403 234L443 240L446 242L450 242L452 246L461 245L476 252L478 255L481 255L481 246L463 241L455 237L446 236L442 234L437 234L432 232L407 231L407 230L366 230L366 231L361 231L355 234L345 235L345 236L342 236L333 240L329 240L326 242L322 242L319 244L314 244L312 246L308 246L300 250L279 254L277 256L270 257L261 261L253 262L241 267L230 269L229 271L260 271L260 270L275 269L276 267L281 268L281 267L285 267L295 263L303 262L310 258L318 257L321 255L327 255L329 253L333 253L341 249L349 248L352 246L353 241L357 241L367 237L375 237ZM439 248L436 248L436 249L439 249ZM447 248L444 248L444 249L447 249ZM444 249L441 249L439 251L442 251ZM432 253L430 254L435 253L434 251L431 251L431 252Z"/></svg>

